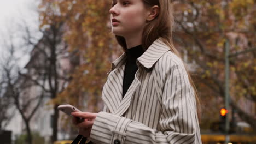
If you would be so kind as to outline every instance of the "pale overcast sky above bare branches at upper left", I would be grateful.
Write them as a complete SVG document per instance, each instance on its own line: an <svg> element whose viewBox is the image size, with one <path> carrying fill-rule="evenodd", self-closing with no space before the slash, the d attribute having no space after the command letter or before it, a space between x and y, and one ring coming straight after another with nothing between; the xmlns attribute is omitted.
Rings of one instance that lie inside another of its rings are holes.
<svg viewBox="0 0 256 144"><path fill-rule="evenodd" d="M26 25L30 28L30 31L38 31L38 13L37 5L38 0L0 0L0 56L3 57L5 47L3 41L9 40L10 34L15 37L15 44L19 47L22 43L20 35L22 34L21 25ZM21 50L21 49L19 49ZM24 50L16 53L21 57L21 67L25 65L29 59L28 52L31 47L25 47Z"/></svg>

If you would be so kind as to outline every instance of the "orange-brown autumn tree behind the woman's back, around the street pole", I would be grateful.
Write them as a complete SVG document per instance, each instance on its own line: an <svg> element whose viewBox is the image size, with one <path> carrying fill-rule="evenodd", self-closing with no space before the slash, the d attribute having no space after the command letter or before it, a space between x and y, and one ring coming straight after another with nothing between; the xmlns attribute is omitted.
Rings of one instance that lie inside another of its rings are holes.
<svg viewBox="0 0 256 144"><path fill-rule="evenodd" d="M218 110L224 105L218 98L225 95L224 44L229 41L230 53L237 53L230 56L230 105L255 129L253 113L237 103L250 100L255 104L255 1L193 0L173 4L177 23L174 41L187 53L188 61L194 61L204 124L209 127L209 122L214 121L211 116L218 118Z"/></svg>

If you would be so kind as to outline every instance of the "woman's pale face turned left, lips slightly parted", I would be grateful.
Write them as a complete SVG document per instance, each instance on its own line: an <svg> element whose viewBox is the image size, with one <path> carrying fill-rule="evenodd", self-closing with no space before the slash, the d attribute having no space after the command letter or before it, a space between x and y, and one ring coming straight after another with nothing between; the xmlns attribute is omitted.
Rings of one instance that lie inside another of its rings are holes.
<svg viewBox="0 0 256 144"><path fill-rule="evenodd" d="M112 3L109 10L112 32L123 37L142 33L149 14L142 0L113 0Z"/></svg>

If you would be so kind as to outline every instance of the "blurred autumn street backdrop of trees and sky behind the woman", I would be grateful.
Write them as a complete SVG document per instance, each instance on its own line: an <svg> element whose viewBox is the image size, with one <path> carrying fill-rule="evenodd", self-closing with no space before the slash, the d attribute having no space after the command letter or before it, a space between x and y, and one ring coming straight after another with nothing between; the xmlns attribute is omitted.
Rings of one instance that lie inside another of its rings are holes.
<svg viewBox="0 0 256 144"><path fill-rule="evenodd" d="M99 112L110 64L110 0L0 4L0 140L71 143L60 104ZM256 143L256 1L173 1L173 42L199 91L203 143Z"/></svg>

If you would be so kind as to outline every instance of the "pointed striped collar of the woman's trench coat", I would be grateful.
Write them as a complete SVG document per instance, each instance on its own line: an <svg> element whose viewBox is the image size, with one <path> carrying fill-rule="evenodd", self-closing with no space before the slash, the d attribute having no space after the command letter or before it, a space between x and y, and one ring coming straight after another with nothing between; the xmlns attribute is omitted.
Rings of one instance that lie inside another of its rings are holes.
<svg viewBox="0 0 256 144"><path fill-rule="evenodd" d="M144 68L150 69L153 65L164 55L165 52L169 51L170 48L159 38L156 39L152 45L143 53L141 57L137 59L137 64L140 63ZM121 67L126 60L126 54L123 53L119 58L112 62L111 70Z"/></svg>

